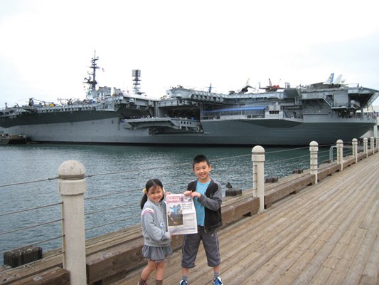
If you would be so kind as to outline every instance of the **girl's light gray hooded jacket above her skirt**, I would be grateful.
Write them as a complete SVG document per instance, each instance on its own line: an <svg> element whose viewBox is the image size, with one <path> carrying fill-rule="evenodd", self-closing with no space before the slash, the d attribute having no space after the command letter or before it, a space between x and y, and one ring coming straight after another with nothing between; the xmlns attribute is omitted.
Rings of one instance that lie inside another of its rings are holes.
<svg viewBox="0 0 379 285"><path fill-rule="evenodd" d="M144 244L149 247L166 247L170 245L167 232L166 202L151 202L147 199L141 212L142 235Z"/></svg>

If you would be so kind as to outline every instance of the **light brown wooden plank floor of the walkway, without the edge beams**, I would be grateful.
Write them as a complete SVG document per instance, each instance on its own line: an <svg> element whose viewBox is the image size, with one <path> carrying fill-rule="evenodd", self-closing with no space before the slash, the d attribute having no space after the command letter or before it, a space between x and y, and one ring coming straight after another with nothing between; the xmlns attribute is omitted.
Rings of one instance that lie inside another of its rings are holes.
<svg viewBox="0 0 379 285"><path fill-rule="evenodd" d="M378 157L221 229L224 284L379 284ZM165 268L164 284L178 284L180 250ZM141 270L115 284L137 284ZM155 284L153 275L149 284ZM211 284L202 246L188 276L191 285Z"/></svg>

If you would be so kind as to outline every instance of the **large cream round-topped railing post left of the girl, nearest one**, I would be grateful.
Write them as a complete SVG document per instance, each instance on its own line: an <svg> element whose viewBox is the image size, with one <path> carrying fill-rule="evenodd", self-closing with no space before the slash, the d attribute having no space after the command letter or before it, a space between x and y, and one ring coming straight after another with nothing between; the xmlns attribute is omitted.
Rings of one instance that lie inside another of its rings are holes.
<svg viewBox="0 0 379 285"><path fill-rule="evenodd" d="M67 160L58 168L58 193L62 200L63 268L70 271L70 284L87 284L85 265L85 167Z"/></svg>

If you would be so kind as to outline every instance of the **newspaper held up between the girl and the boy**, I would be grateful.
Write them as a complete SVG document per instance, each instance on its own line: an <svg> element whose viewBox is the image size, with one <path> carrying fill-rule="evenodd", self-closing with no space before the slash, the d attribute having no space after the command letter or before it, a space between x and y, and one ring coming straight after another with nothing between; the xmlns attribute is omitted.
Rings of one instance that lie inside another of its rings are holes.
<svg viewBox="0 0 379 285"><path fill-rule="evenodd" d="M196 234L198 232L196 209L191 196L167 195L166 203L170 234Z"/></svg>

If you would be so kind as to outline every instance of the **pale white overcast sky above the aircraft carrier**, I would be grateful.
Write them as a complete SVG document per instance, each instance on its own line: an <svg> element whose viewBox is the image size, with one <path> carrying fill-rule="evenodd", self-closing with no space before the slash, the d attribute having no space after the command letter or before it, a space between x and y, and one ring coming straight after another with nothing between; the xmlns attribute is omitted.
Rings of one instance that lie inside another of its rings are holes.
<svg viewBox="0 0 379 285"><path fill-rule="evenodd" d="M85 98L100 86L161 97L171 86L228 93L343 74L379 90L378 1L0 0L0 108ZM379 105L379 99L375 105Z"/></svg>

